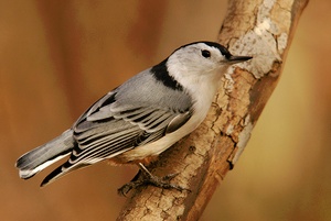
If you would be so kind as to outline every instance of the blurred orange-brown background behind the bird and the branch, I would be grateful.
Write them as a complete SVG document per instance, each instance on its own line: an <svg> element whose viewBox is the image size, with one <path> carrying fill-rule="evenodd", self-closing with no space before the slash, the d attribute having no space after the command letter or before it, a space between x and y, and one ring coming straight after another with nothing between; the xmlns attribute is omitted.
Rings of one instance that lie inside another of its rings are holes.
<svg viewBox="0 0 331 221"><path fill-rule="evenodd" d="M96 99L178 46L215 40L226 1L0 0L0 219L115 220L135 167L39 188L13 167ZM201 220L331 220L331 1L302 14L282 77Z"/></svg>

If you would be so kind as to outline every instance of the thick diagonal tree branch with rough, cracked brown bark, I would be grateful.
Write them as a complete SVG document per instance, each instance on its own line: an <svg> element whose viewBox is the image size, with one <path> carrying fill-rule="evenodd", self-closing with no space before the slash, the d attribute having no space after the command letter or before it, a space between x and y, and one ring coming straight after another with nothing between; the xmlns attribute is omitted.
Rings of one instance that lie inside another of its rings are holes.
<svg viewBox="0 0 331 221"><path fill-rule="evenodd" d="M197 220L214 190L244 151L279 79L299 16L308 0L231 0L217 42L252 55L225 76L205 121L149 166L179 173L172 183L191 191L142 187L118 220Z"/></svg>

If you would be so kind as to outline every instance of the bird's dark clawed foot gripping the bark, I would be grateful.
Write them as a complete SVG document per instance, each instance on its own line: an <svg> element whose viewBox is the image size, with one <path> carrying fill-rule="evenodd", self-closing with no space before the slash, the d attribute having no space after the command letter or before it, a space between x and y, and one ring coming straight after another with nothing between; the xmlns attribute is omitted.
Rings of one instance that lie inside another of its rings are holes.
<svg viewBox="0 0 331 221"><path fill-rule="evenodd" d="M139 163L140 167L138 174L134 177L134 179L120 187L117 191L120 196L126 196L131 189L143 186L143 185L152 185L154 187L160 187L163 189L177 189L179 191L189 190L181 186L170 184L170 180L175 177L178 174L170 174L163 177L157 177L152 175L143 164Z"/></svg>

